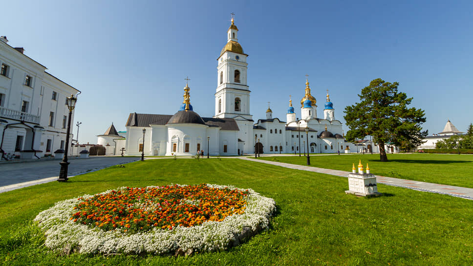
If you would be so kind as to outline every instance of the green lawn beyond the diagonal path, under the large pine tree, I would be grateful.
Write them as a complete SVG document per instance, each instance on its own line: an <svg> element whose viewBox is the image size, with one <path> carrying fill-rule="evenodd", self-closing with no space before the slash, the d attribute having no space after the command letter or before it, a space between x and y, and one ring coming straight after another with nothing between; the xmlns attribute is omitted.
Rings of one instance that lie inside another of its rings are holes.
<svg viewBox="0 0 473 266"><path fill-rule="evenodd" d="M310 165L320 168L351 172L352 164L364 168L369 164L371 174L444 185L473 188L473 155L389 154L388 162L381 162L379 154L348 154L311 156ZM306 165L307 159L299 156L259 157L261 160Z"/></svg>

